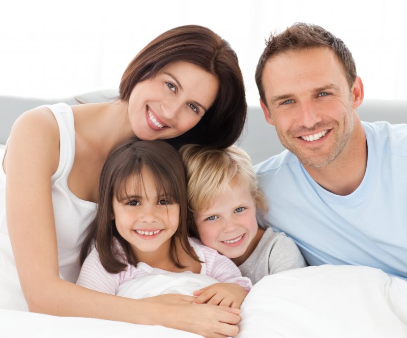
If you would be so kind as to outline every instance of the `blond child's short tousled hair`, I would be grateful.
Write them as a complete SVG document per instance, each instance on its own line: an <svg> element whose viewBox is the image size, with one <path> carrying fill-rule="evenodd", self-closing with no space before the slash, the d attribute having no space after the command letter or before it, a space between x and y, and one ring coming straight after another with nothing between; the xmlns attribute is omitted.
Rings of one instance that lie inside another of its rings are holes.
<svg viewBox="0 0 407 338"><path fill-rule="evenodd" d="M180 153L187 173L191 211L205 210L218 194L230 187L247 184L256 208L267 212L266 199L258 187L253 164L246 151L237 146L215 149L187 144Z"/></svg>

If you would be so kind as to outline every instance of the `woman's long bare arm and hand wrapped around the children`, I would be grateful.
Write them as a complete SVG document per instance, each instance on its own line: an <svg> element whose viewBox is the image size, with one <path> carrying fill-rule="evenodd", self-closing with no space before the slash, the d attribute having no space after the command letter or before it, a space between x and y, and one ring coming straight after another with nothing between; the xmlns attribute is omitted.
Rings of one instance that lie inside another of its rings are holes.
<svg viewBox="0 0 407 338"><path fill-rule="evenodd" d="M89 290L60 279L51 176L59 164L59 129L47 108L15 122L5 160L7 223L22 291L32 312L92 317L183 329L205 336L234 336L238 312L191 304L133 300Z"/></svg>

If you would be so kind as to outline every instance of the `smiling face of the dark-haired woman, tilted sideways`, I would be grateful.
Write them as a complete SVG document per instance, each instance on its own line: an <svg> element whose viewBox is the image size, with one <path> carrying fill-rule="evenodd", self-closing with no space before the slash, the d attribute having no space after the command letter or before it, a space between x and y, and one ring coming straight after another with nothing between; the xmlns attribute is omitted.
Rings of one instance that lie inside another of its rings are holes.
<svg viewBox="0 0 407 338"><path fill-rule="evenodd" d="M217 78L200 67L169 63L132 90L128 116L134 134L142 140L168 139L194 127L214 103Z"/></svg>

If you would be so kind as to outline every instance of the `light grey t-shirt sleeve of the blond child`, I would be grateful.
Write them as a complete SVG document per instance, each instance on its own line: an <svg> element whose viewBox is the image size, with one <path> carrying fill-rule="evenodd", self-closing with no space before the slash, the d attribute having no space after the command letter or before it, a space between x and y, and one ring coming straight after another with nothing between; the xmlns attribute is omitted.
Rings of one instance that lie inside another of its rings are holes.
<svg viewBox="0 0 407 338"><path fill-rule="evenodd" d="M296 243L284 233L275 237L269 256L269 274L307 266Z"/></svg>

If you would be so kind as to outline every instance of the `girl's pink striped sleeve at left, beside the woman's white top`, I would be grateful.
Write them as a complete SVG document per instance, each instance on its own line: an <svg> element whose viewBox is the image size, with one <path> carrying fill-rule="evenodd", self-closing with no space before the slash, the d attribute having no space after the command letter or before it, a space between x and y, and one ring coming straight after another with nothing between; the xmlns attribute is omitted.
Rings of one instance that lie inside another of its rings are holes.
<svg viewBox="0 0 407 338"><path fill-rule="evenodd" d="M120 284L119 273L109 273L99 259L99 253L94 248L83 262L77 285L88 289L114 295Z"/></svg>

